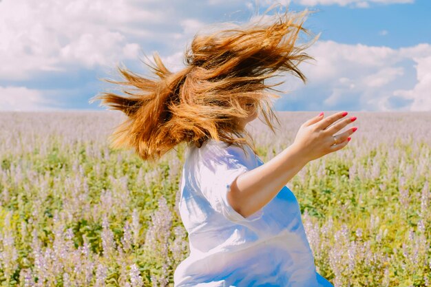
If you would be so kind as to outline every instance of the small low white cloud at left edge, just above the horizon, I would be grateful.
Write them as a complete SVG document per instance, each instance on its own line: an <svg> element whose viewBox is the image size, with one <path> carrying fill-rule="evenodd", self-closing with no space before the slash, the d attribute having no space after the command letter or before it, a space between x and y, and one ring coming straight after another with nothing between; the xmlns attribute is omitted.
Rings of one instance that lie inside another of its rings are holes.
<svg viewBox="0 0 431 287"><path fill-rule="evenodd" d="M41 92L36 89L1 86L0 101L1 111L50 110L47 105L55 103L43 98Z"/></svg>

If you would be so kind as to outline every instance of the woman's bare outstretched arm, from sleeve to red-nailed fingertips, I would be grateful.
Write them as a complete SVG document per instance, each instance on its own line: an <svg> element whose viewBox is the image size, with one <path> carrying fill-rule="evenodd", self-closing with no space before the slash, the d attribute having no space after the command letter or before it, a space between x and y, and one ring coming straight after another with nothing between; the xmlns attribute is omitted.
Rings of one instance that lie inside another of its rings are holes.
<svg viewBox="0 0 431 287"><path fill-rule="evenodd" d="M282 187L309 161L345 147L350 140L348 136L353 134L355 128L337 134L336 145L333 134L356 118L345 118L334 125L331 124L346 114L339 112L324 119L317 116L307 120L301 125L291 146L269 162L235 178L231 184L231 191L227 194L227 200L232 208L242 216L249 217L273 200Z"/></svg>

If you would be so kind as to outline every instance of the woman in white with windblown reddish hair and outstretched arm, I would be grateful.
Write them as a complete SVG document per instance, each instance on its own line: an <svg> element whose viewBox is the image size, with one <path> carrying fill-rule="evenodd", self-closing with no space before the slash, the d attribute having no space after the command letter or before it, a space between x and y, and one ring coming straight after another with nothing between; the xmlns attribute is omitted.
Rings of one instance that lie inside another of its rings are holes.
<svg viewBox="0 0 431 287"><path fill-rule="evenodd" d="M114 147L157 160L187 142L179 209L191 253L175 270L176 287L332 286L315 270L298 202L285 184L307 162L345 147L355 128L335 134L355 117L322 112L266 163L245 130L263 116L274 131L269 99L280 96L268 91L280 83L266 79L289 72L305 83L297 65L313 58L304 53L309 44L295 43L299 32L308 33L307 13L198 34L180 72L169 72L155 55L158 78L120 69L125 81L110 82L136 89L126 91L129 97L98 96L129 117Z"/></svg>

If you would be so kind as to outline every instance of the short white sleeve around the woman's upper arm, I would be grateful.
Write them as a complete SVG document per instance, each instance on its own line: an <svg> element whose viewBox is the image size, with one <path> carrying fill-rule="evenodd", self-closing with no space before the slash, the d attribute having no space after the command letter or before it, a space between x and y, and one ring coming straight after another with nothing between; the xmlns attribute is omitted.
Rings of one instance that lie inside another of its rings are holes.
<svg viewBox="0 0 431 287"><path fill-rule="evenodd" d="M204 153L199 168L200 190L204 198L215 211L236 224L258 220L263 215L260 209L249 217L243 217L227 200L233 180L250 170L244 156L239 147L213 148Z"/></svg>

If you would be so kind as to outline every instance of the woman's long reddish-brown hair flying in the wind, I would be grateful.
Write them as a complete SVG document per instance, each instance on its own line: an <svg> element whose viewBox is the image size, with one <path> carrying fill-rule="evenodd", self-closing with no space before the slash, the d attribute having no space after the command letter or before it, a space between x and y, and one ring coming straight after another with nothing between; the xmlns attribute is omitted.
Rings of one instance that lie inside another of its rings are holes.
<svg viewBox="0 0 431 287"><path fill-rule="evenodd" d="M288 72L306 83L297 65L314 60L304 50L314 43L295 45L299 32L311 34L302 25L309 13L264 14L234 28L211 34L196 34L185 51L185 67L170 72L157 53L149 65L153 78L117 67L127 96L112 92L98 94L103 104L123 111L127 120L112 134L110 147L134 148L143 160L154 162L181 142L201 147L209 138L228 145L249 145L255 153L250 134L238 125L239 118L257 112L274 131L271 109L273 92L284 83L265 80ZM243 137L244 136L244 137Z"/></svg>

